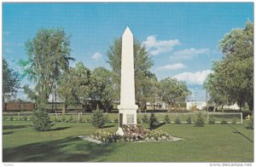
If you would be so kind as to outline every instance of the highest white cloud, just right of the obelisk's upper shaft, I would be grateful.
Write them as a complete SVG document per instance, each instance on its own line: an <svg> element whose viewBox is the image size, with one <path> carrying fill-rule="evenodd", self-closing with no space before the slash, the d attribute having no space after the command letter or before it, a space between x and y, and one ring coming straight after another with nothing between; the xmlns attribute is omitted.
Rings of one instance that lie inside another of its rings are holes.
<svg viewBox="0 0 256 167"><path fill-rule="evenodd" d="M161 53L171 52L173 47L180 44L177 39L166 41L157 40L155 36L148 36L143 45L146 47L150 55L159 55Z"/></svg>

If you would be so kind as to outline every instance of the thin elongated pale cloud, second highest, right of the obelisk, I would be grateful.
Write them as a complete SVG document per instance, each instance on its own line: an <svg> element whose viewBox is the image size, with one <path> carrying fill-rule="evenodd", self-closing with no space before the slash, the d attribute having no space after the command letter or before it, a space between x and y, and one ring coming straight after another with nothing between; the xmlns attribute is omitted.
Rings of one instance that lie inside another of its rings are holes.
<svg viewBox="0 0 256 167"><path fill-rule="evenodd" d="M183 49L174 52L170 58L171 60L192 60L197 55L209 54L209 49Z"/></svg>

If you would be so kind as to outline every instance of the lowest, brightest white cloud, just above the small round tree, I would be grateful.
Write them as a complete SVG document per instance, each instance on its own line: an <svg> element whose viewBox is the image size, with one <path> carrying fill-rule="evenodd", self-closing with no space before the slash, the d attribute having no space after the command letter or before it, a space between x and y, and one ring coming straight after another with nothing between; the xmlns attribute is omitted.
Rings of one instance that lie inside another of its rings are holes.
<svg viewBox="0 0 256 167"><path fill-rule="evenodd" d="M188 84L203 84L207 78L207 75L209 75L211 72L211 70L201 72L183 72L177 74L173 78L177 78L179 81L185 81Z"/></svg>

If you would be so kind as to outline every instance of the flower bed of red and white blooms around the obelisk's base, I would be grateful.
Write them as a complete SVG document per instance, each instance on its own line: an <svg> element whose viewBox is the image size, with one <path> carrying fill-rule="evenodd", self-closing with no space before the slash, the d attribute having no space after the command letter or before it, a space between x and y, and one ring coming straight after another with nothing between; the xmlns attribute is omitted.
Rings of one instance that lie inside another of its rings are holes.
<svg viewBox="0 0 256 167"><path fill-rule="evenodd" d="M90 137L102 142L131 142L131 141L171 141L172 136L162 130L145 130L140 125L126 125L122 127L124 135L115 132L98 130Z"/></svg>

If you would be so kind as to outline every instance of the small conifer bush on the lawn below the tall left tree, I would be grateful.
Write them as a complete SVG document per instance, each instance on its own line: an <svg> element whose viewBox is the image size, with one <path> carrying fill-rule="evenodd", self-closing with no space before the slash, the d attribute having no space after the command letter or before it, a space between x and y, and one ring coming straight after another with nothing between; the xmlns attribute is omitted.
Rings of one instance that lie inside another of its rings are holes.
<svg viewBox="0 0 256 167"><path fill-rule="evenodd" d="M32 127L34 130L50 130L53 126L54 124L50 121L49 115L45 110L41 109L33 112Z"/></svg>

